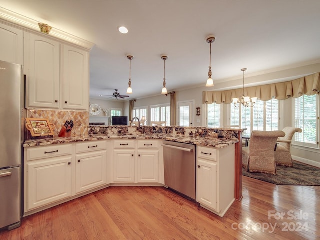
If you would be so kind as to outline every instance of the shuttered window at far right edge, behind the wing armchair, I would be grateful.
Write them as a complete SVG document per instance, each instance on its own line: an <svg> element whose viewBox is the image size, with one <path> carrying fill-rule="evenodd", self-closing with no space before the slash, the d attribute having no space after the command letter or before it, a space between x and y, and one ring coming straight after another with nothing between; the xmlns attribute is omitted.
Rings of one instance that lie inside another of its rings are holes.
<svg viewBox="0 0 320 240"><path fill-rule="evenodd" d="M318 95L303 95L292 99L294 111L294 126L302 129L294 134L294 141L298 144L318 148Z"/></svg>

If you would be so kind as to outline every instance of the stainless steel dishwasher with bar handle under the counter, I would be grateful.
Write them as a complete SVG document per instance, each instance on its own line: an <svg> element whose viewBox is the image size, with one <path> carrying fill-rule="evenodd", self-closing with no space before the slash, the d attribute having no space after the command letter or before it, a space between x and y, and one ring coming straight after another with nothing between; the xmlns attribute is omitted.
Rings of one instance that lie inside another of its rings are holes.
<svg viewBox="0 0 320 240"><path fill-rule="evenodd" d="M162 146L164 184L195 200L195 145L164 140Z"/></svg>

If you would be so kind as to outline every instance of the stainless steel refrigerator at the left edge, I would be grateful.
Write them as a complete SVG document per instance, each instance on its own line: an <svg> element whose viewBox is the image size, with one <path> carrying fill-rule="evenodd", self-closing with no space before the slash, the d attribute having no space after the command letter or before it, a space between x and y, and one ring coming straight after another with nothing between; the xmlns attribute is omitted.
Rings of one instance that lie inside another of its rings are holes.
<svg viewBox="0 0 320 240"><path fill-rule="evenodd" d="M0 61L0 229L21 223L24 112L22 66Z"/></svg>

